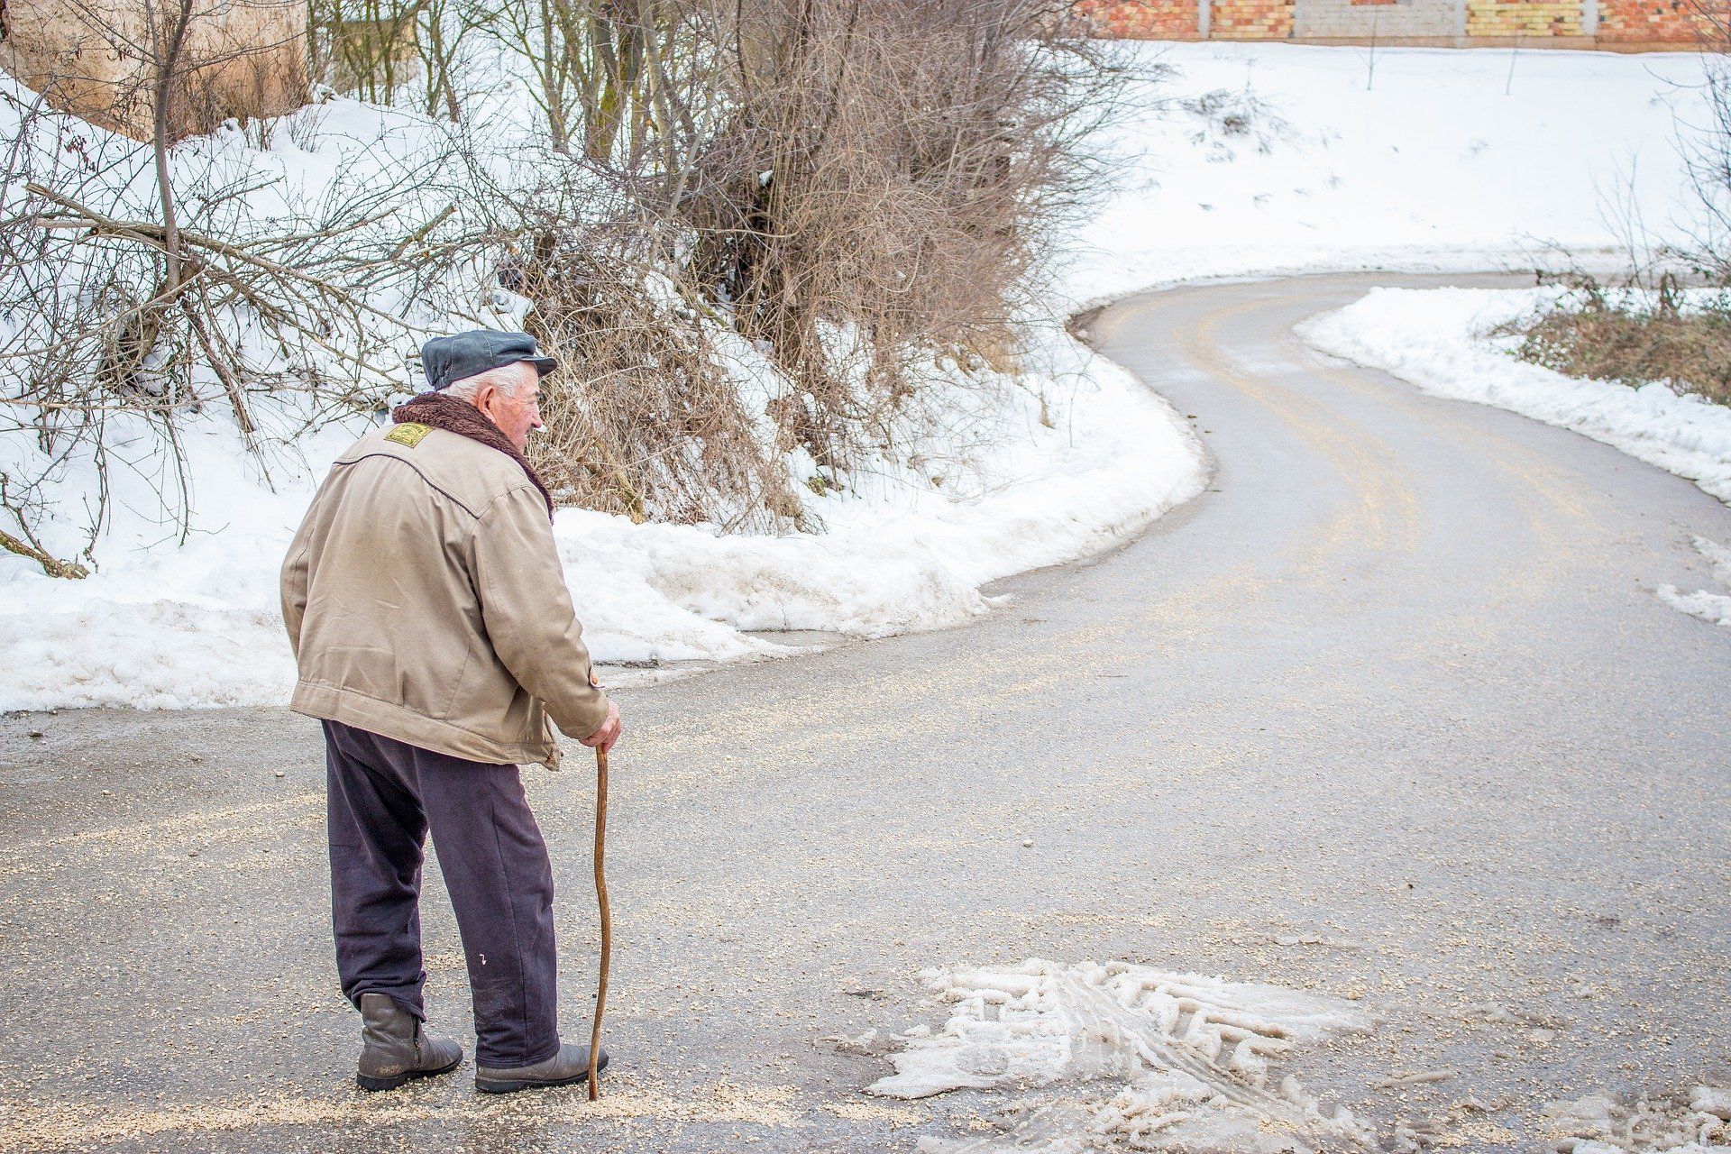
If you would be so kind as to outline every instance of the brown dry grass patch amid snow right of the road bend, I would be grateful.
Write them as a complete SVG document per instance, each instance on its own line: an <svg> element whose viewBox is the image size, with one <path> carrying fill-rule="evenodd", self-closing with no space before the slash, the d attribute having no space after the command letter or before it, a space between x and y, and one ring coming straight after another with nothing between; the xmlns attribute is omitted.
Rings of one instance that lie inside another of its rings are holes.
<svg viewBox="0 0 1731 1154"><path fill-rule="evenodd" d="M1520 337L1515 355L1570 377L1638 388L1663 381L1731 405L1731 291L1683 296L1672 279L1655 291L1610 287L1591 277L1568 280L1556 306L1501 325Z"/></svg>

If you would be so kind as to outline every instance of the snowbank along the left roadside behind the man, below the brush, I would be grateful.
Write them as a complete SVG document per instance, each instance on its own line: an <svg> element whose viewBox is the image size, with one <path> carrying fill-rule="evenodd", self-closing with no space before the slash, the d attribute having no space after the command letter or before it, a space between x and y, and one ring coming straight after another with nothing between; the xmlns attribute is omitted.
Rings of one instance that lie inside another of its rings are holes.
<svg viewBox="0 0 1731 1154"><path fill-rule="evenodd" d="M1033 384L1059 420L1042 424L1040 398L1011 382L990 400L950 398L971 405L962 417L975 424L990 410L994 436L943 462L943 486L879 478L814 498L826 533L722 535L559 510L554 533L595 657L729 661L788 652L746 630L881 637L956 625L988 609L980 585L1104 548L1200 488L1200 448L1165 401L1066 337L1035 358ZM331 460L360 427L301 448ZM185 545L126 512L149 507L158 479L116 476L121 510L104 554L114 561L95 574L54 580L0 555L0 709L287 699L277 569L322 469L279 472L270 491L230 434L211 417L185 438L199 510ZM69 478L68 500L85 483Z"/></svg>

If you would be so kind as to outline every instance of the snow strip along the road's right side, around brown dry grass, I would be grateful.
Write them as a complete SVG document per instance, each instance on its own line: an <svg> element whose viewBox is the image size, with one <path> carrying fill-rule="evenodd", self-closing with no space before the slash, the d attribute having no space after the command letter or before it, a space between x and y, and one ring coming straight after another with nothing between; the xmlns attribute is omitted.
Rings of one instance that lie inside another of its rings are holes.
<svg viewBox="0 0 1731 1154"><path fill-rule="evenodd" d="M1324 353L1383 369L1426 393L1573 429L1731 503L1731 407L1679 394L1660 382L1632 389L1567 377L1515 360L1511 341L1485 336L1561 292L1373 289L1347 308L1298 325L1298 336Z"/></svg>

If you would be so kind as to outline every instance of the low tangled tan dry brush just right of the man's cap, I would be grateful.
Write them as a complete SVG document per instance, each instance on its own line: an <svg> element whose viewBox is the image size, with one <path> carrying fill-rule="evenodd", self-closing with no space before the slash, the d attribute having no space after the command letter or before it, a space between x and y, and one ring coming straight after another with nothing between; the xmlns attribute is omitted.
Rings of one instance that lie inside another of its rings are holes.
<svg viewBox="0 0 1731 1154"><path fill-rule="evenodd" d="M530 457L556 498L634 521L729 529L803 523L737 379L739 337L680 279L666 221L585 164L531 166L530 185L485 189L488 261L524 303L523 327L564 370L544 386ZM606 209L613 211L606 211Z"/></svg>

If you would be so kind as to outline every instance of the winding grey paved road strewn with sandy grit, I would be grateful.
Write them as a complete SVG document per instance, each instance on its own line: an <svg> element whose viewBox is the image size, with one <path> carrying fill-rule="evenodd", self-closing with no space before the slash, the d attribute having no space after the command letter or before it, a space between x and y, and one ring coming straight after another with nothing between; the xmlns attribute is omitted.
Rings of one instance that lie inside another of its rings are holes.
<svg viewBox="0 0 1731 1154"><path fill-rule="evenodd" d="M1359 998L1376 1031L1295 1071L1385 1135L1549 1149L1548 1099L1728 1080L1731 633L1650 590L1710 587L1688 538L1731 510L1291 337L1392 282L1092 324L1213 462L1134 545L968 628L623 694L599 1107L350 1090L310 721L0 720L0 1152L911 1151L992 1097L864 1099L885 1061L822 1038L936 1021L921 967L1026 955ZM578 1033L590 777L528 780ZM1458 1073L1371 1088L1414 1069Z"/></svg>

